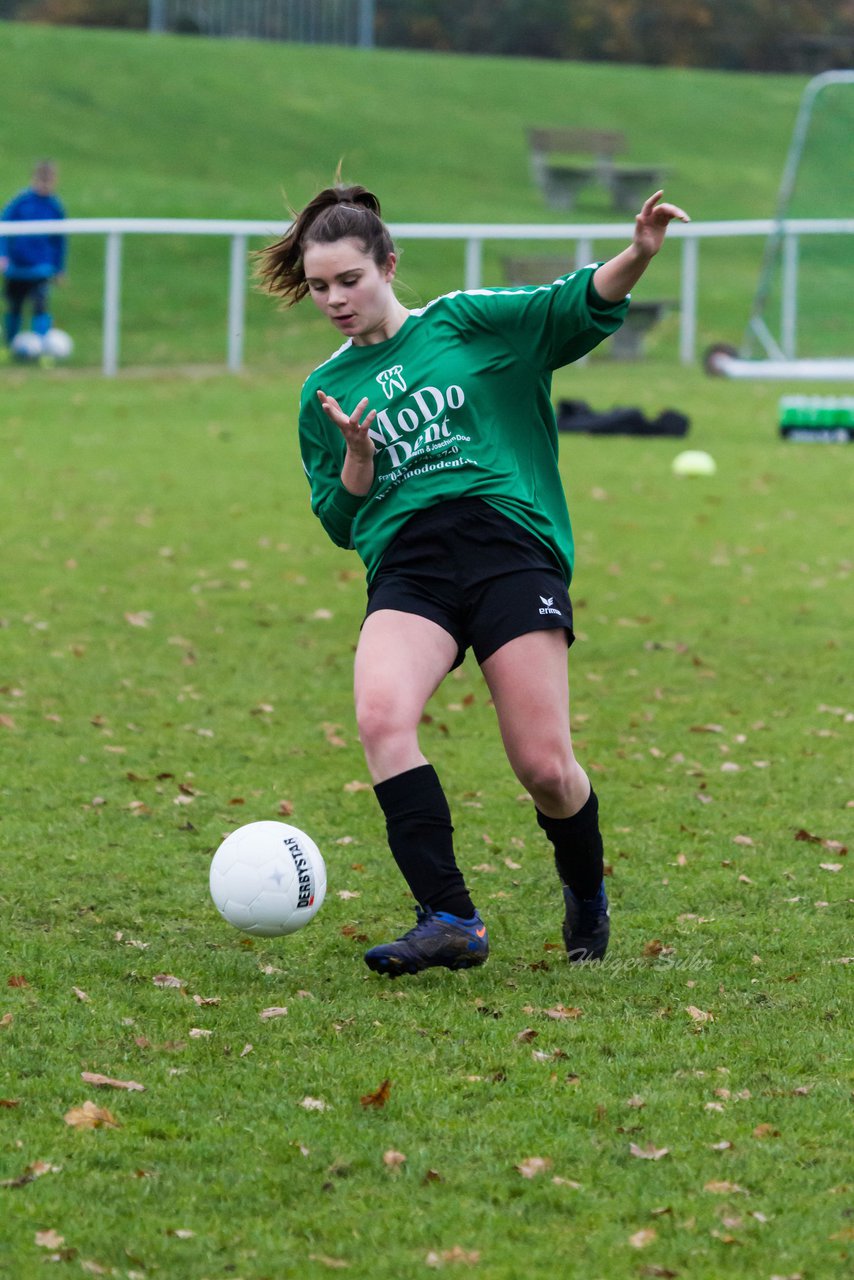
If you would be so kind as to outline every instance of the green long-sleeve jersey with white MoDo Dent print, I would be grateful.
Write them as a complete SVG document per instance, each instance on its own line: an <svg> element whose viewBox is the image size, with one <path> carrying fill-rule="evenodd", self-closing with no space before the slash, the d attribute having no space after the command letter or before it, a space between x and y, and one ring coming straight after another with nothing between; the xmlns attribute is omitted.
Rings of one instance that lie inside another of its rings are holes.
<svg viewBox="0 0 854 1280"><path fill-rule="evenodd" d="M449 293L411 311L387 342L344 343L309 376L300 448L311 508L339 547L374 576L394 534L417 511L483 498L530 530L572 576L572 527L558 474L552 371L620 326L629 300L606 302L593 266L552 284ZM341 483L346 444L318 390L344 412L367 397L374 483Z"/></svg>

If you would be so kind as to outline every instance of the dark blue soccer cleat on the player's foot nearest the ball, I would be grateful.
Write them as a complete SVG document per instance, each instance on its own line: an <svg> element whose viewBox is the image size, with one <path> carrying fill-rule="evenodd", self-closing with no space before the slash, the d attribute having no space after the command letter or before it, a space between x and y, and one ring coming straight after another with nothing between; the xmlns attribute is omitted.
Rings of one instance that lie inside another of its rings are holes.
<svg viewBox="0 0 854 1280"><path fill-rule="evenodd" d="M487 925L478 913L470 920L448 911L415 909L417 924L397 942L384 942L365 952L365 964L375 973L398 978L421 969L471 969L489 955Z"/></svg>

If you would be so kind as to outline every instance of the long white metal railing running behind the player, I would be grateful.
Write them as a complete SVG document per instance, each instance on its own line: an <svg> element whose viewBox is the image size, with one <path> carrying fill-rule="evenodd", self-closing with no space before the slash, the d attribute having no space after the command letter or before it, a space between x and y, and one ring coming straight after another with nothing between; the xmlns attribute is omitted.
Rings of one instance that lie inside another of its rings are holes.
<svg viewBox="0 0 854 1280"><path fill-rule="evenodd" d="M288 223L236 221L228 219L192 218L68 218L63 221L0 223L0 236L64 234L104 236L104 335L101 367L111 376L119 367L119 333L122 312L122 247L125 236L222 236L230 241L229 291L227 317L227 364L238 371L243 365L243 323L247 288L247 253L250 238L271 241L282 236ZM483 283L483 248L488 241L563 241L575 244L575 265L583 266L595 257L599 241L631 238L632 227L617 223L543 225L539 223L391 223L398 242L460 241L463 246L463 282L466 289ZM668 237L681 242L680 268L680 333L679 356L684 365L697 358L697 316L699 306L699 251L704 239L727 237L768 237L781 234L786 250L782 255L781 333L784 355L794 357L798 316L798 246L807 236L854 236L854 218L775 219L727 223L673 223Z"/></svg>

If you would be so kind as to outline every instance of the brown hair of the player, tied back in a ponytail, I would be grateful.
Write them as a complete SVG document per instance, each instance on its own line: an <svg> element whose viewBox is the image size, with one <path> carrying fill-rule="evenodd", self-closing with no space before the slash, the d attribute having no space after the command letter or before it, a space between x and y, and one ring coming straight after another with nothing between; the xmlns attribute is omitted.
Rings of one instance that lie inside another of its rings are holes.
<svg viewBox="0 0 854 1280"><path fill-rule="evenodd" d="M289 306L309 292L302 257L309 244L334 244L352 237L378 266L388 262L394 242L383 221L376 196L366 187L334 186L320 191L274 244L261 250L259 276L268 293L278 294Z"/></svg>

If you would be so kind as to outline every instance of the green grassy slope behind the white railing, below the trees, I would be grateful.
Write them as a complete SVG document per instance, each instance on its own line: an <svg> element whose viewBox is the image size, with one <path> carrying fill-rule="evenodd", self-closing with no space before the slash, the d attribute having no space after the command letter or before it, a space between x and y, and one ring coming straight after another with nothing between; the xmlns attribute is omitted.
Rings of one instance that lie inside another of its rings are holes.
<svg viewBox="0 0 854 1280"><path fill-rule="evenodd" d="M0 192L18 189L33 159L52 155L79 216L275 220L283 191L303 202L343 157L347 175L380 191L393 220L557 221L566 219L530 179L524 129L574 124L624 129L627 159L667 165L668 195L695 219L766 216L803 83L4 23L0 113L14 128ZM590 191L576 218L613 215ZM704 338L740 335L758 251L741 242L734 257L720 246L704 253ZM76 242L61 307L81 358L97 356L101 259L100 241ZM219 360L225 244L137 241L127 260L124 358ZM430 297L460 284L461 264L460 246L414 243L403 279L417 298ZM672 296L675 256L657 268L653 292ZM488 270L498 279L497 250ZM659 338L670 351L675 324ZM283 332L269 303L254 300L250 358L271 355Z"/></svg>

